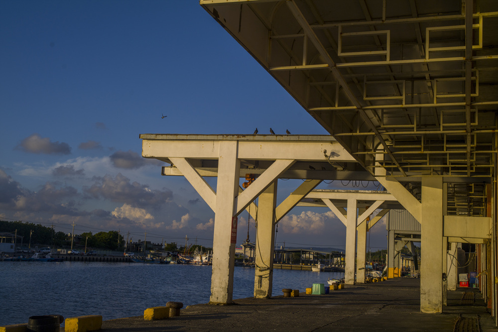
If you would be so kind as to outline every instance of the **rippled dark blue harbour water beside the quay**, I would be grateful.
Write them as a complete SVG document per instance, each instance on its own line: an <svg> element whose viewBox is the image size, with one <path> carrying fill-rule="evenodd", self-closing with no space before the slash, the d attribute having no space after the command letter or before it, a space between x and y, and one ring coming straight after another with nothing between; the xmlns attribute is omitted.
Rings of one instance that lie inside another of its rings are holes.
<svg viewBox="0 0 498 332"><path fill-rule="evenodd" d="M344 273L273 271L273 295L304 291ZM254 269L236 267L234 299L252 297ZM207 303L211 266L100 262L0 262L0 326L27 323L29 316L102 315L104 320L141 316L168 301Z"/></svg>

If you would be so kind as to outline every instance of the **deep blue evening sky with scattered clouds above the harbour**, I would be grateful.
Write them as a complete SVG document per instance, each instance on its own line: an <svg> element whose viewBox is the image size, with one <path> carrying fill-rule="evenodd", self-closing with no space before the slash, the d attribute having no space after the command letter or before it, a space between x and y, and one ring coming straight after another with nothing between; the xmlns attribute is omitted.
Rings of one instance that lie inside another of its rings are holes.
<svg viewBox="0 0 498 332"><path fill-rule="evenodd" d="M0 0L0 64L0 220L212 246L214 212L141 157L139 134L328 134L196 0ZM279 180L277 201L300 181ZM277 229L277 246L345 247L328 208ZM383 220L368 245L387 247Z"/></svg>

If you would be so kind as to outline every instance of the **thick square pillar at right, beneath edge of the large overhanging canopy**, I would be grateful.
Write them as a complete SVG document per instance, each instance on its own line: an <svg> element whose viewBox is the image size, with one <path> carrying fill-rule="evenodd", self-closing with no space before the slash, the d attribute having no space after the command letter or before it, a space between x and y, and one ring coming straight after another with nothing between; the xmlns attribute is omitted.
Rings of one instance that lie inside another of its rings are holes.
<svg viewBox="0 0 498 332"><path fill-rule="evenodd" d="M443 178L422 178L420 311L441 313Z"/></svg>

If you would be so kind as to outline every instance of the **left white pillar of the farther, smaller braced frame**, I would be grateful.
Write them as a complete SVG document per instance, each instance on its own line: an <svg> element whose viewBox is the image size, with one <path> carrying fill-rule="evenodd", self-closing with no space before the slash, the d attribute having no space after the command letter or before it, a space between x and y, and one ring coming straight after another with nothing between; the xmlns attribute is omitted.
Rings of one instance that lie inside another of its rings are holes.
<svg viewBox="0 0 498 332"><path fill-rule="evenodd" d="M348 285L355 284L355 261L356 261L356 199L348 199L348 211L346 218L346 267L345 283Z"/></svg>

